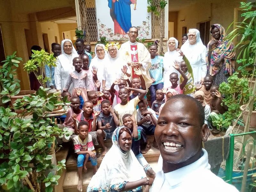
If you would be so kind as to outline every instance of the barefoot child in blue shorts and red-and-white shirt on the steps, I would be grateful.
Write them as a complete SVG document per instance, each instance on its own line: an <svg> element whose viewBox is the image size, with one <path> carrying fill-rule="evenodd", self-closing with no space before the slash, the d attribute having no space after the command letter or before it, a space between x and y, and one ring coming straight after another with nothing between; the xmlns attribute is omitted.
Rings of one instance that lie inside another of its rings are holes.
<svg viewBox="0 0 256 192"><path fill-rule="evenodd" d="M79 122L77 129L79 135L76 135L73 138L75 153L77 155L77 172L79 176L77 190L83 191L83 169L84 172L87 171L86 163L89 160L93 167L93 174L95 174L97 172L97 158L96 151L92 144L92 136L88 134L88 123L86 121Z"/></svg>

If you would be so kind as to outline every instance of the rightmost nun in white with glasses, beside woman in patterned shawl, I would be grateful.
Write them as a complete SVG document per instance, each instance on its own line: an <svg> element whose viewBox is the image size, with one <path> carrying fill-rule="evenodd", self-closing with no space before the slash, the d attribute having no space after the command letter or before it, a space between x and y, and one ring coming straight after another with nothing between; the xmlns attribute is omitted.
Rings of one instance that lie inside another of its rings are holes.
<svg viewBox="0 0 256 192"><path fill-rule="evenodd" d="M180 50L186 55L194 75L194 82L204 81L207 73L206 47L200 38L197 29L188 30L188 40L181 46Z"/></svg>

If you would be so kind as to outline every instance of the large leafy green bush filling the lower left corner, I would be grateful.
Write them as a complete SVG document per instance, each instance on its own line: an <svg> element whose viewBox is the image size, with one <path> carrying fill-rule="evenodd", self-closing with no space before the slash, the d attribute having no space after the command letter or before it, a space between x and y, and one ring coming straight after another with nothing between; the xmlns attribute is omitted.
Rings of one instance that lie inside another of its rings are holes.
<svg viewBox="0 0 256 192"><path fill-rule="evenodd" d="M23 110L21 114L0 107L0 191L39 192L44 184L44 190L50 192L58 185L60 176L49 170L60 174L65 167L65 159L52 164L51 155L54 140L63 132L49 115L58 105L67 108L67 100L60 101L46 91L40 87L31 97L17 99L13 105Z"/></svg>

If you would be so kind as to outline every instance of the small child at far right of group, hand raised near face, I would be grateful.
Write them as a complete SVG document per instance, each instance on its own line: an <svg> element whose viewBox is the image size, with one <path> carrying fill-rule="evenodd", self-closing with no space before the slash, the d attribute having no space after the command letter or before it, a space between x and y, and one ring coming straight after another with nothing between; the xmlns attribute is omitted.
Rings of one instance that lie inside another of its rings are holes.
<svg viewBox="0 0 256 192"><path fill-rule="evenodd" d="M210 91L212 100L210 103L211 113L208 121L212 123L213 128L217 128L217 130L220 130L220 127L214 121L218 119L225 119L222 114L225 113L228 108L226 105L224 105L224 103L222 103L223 97L221 97L221 94L219 92L219 86L213 85ZM215 130L213 130L213 132L215 132Z"/></svg>

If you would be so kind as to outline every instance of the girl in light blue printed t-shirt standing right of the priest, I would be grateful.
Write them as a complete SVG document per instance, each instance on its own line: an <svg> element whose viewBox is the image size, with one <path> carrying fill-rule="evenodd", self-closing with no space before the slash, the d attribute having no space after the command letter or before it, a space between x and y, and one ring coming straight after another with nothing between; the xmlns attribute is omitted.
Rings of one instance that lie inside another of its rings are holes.
<svg viewBox="0 0 256 192"><path fill-rule="evenodd" d="M164 87L164 57L156 55L157 48L158 41L155 41L149 48L149 53L151 57L151 67L149 68L149 74L153 80L153 83L148 88L151 93L151 103L156 100L156 91L159 89L163 89Z"/></svg>

